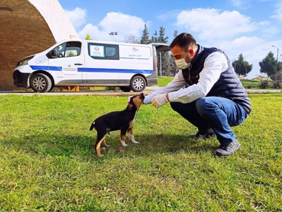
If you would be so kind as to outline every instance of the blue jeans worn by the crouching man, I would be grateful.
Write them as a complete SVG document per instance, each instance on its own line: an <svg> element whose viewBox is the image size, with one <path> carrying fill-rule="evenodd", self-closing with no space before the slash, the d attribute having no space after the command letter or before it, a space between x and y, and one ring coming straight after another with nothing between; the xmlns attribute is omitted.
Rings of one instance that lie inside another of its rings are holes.
<svg viewBox="0 0 282 212"><path fill-rule="evenodd" d="M203 97L185 104L170 102L170 106L199 131L211 127L221 144L232 142L236 136L230 127L240 125L248 117L241 105L222 97Z"/></svg>

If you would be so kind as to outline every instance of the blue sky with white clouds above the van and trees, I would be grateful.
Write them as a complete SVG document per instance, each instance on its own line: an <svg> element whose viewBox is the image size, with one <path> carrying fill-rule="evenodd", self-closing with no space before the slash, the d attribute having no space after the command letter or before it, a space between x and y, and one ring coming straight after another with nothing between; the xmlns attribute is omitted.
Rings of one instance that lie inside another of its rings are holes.
<svg viewBox="0 0 282 212"><path fill-rule="evenodd" d="M259 61L271 50L282 61L282 0L152 1L59 0L77 33L85 39L121 42L127 34L141 38L165 28L170 43L174 30L188 32L203 47L216 47L232 61L240 53L253 64L248 77L261 75Z"/></svg>

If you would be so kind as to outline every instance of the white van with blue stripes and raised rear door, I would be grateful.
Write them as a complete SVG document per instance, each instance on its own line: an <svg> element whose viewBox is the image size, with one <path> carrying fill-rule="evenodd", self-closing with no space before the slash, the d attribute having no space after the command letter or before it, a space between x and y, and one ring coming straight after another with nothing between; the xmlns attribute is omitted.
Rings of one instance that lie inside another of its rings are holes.
<svg viewBox="0 0 282 212"><path fill-rule="evenodd" d="M94 40L63 40L19 61L14 85L49 92L55 86L118 86L141 92L157 84L157 51L169 44L148 45Z"/></svg>

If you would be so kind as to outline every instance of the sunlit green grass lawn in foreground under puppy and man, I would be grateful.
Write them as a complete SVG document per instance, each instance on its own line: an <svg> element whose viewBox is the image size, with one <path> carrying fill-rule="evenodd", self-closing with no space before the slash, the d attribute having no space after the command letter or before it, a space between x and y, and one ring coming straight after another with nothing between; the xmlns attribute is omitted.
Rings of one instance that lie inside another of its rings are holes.
<svg viewBox="0 0 282 212"><path fill-rule="evenodd" d="M0 96L0 211L282 210L282 96L249 97L233 156L214 157L215 138L191 140L196 128L166 104L139 110L140 144L116 151L115 131L97 158L89 127L127 97Z"/></svg>

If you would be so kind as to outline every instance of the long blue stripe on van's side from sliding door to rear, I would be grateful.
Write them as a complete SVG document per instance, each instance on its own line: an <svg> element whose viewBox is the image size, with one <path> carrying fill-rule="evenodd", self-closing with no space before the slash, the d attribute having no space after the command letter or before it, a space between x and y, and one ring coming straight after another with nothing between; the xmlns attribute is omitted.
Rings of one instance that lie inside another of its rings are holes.
<svg viewBox="0 0 282 212"><path fill-rule="evenodd" d="M132 73L132 74L152 74L153 70L139 69L113 69L113 68L78 68L78 72L102 72L102 73Z"/></svg>

